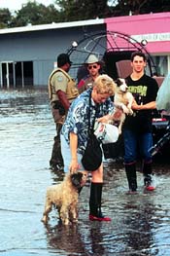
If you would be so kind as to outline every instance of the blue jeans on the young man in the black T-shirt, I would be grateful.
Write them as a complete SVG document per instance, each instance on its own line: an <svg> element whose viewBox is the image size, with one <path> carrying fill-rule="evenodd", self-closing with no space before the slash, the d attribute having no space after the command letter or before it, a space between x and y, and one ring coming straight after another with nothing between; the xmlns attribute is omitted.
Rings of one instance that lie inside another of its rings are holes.
<svg viewBox="0 0 170 256"><path fill-rule="evenodd" d="M138 157L138 150L140 157L144 163L152 162L152 155L149 149L153 146L152 132L137 133L130 129L123 130L124 137L124 164L135 163Z"/></svg>

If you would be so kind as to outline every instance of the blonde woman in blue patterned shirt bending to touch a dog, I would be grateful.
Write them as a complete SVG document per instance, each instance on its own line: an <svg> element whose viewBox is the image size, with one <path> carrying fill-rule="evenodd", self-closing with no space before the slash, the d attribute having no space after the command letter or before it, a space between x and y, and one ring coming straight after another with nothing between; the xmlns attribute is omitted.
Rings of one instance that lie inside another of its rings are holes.
<svg viewBox="0 0 170 256"><path fill-rule="evenodd" d="M90 113L90 124L95 118L103 123L112 120L116 114L111 114L114 104L110 96L114 94L115 88L116 85L109 76L99 75L92 89L85 90L72 103L61 130L61 149L65 171L85 171L81 161L88 138L88 113ZM104 216L101 210L103 164L91 171L91 175L89 220L110 221L111 219Z"/></svg>

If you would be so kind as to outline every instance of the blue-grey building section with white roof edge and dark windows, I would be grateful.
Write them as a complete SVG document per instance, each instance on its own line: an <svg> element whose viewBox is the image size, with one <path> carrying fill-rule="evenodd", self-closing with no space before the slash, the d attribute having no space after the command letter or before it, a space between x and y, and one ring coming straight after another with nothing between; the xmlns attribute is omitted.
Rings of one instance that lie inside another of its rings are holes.
<svg viewBox="0 0 170 256"><path fill-rule="evenodd" d="M47 86L56 56L104 28L103 19L94 19L1 29L0 87Z"/></svg>

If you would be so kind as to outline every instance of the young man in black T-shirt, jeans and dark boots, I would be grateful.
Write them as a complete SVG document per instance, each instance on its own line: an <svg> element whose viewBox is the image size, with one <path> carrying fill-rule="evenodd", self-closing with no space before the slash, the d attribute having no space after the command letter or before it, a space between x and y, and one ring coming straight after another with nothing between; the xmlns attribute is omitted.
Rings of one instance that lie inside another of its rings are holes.
<svg viewBox="0 0 170 256"><path fill-rule="evenodd" d="M128 181L128 194L137 193L136 162L140 156L143 160L142 171L144 185L153 191L152 155L153 146L152 110L155 109L155 98L158 90L156 81L145 74L146 55L135 52L131 55L132 74L126 78L128 90L134 96L132 116L126 116L123 125L124 165ZM139 149L139 151L138 151ZM139 154L139 155L138 155Z"/></svg>

